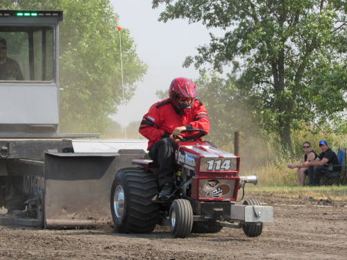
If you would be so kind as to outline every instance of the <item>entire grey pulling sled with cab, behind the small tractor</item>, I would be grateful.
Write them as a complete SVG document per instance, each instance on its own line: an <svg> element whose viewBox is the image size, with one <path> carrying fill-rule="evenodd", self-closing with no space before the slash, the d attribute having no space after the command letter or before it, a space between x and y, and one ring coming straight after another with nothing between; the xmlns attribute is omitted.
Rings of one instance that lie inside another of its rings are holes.
<svg viewBox="0 0 347 260"><path fill-rule="evenodd" d="M108 223L110 182L145 154L144 140L59 132L62 16L0 10L0 225Z"/></svg>

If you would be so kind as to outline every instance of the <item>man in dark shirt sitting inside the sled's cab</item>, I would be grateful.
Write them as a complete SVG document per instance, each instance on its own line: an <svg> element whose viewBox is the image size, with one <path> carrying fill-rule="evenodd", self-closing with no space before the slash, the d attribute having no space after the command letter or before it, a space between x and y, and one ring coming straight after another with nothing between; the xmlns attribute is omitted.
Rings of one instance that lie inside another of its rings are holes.
<svg viewBox="0 0 347 260"><path fill-rule="evenodd" d="M7 42L0 37L0 80L24 80L18 62L7 57Z"/></svg>

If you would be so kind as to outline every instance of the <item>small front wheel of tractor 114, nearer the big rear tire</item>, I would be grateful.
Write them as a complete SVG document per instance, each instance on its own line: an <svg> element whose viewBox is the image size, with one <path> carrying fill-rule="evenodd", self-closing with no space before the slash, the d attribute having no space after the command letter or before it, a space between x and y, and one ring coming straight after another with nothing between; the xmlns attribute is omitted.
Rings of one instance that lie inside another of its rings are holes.
<svg viewBox="0 0 347 260"><path fill-rule="evenodd" d="M169 222L175 237L185 238L189 235L193 226L193 210L189 200L178 199L172 202Z"/></svg>

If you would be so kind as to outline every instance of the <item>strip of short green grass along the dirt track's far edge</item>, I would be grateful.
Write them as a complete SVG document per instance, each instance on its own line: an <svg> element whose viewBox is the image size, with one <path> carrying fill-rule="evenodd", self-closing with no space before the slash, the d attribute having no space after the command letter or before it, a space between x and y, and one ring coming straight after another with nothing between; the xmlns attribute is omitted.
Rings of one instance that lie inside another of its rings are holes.
<svg viewBox="0 0 347 260"><path fill-rule="evenodd" d="M284 198L314 198L339 200L347 202L347 186L321 186L321 187L298 187L298 186L269 186L247 184L246 194L261 194L282 196Z"/></svg>

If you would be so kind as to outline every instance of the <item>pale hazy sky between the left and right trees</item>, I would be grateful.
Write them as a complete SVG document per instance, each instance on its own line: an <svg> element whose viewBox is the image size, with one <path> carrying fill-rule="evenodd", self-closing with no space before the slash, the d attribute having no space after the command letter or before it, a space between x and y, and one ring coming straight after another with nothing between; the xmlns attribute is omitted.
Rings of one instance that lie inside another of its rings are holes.
<svg viewBox="0 0 347 260"><path fill-rule="evenodd" d="M136 83L133 99L112 119L127 125L140 121L149 107L159 101L157 90L169 89L171 80L177 77L198 78L194 66L183 68L188 55L196 55L196 47L210 42L208 29L202 24L188 24L176 19L164 23L158 21L160 9L152 9L151 0L110 0L119 15L119 26L127 28L133 37L137 55L148 65L146 76ZM218 33L218 31L213 31Z"/></svg>

